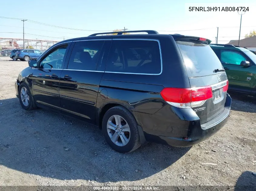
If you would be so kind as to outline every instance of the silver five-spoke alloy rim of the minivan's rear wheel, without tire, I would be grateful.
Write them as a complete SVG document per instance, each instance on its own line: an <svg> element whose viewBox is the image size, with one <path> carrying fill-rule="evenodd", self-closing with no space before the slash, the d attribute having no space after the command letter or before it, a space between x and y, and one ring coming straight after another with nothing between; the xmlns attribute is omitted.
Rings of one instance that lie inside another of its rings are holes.
<svg viewBox="0 0 256 191"><path fill-rule="evenodd" d="M117 146L125 146L130 140L130 127L120 115L113 115L107 123L108 136Z"/></svg>

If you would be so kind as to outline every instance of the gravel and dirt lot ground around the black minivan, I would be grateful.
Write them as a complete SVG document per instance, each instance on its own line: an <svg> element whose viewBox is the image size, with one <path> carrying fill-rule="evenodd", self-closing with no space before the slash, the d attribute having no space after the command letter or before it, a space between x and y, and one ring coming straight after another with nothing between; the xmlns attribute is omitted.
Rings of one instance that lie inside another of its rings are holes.
<svg viewBox="0 0 256 191"><path fill-rule="evenodd" d="M0 57L0 185L256 186L254 98L231 95L226 126L191 148L149 143L120 154L95 126L47 110L23 110L14 82L27 66Z"/></svg>

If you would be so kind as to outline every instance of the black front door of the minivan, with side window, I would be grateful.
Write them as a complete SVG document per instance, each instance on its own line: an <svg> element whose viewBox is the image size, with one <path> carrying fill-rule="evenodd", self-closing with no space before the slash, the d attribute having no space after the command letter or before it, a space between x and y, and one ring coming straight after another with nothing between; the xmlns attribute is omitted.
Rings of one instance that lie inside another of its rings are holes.
<svg viewBox="0 0 256 191"><path fill-rule="evenodd" d="M59 100L59 80L64 67L65 57L67 55L68 44L53 48L48 54L42 57L38 62L38 68L33 72L32 90L34 99L42 107L47 106L52 109L60 109ZM64 51L65 56L57 59L52 58L52 54Z"/></svg>

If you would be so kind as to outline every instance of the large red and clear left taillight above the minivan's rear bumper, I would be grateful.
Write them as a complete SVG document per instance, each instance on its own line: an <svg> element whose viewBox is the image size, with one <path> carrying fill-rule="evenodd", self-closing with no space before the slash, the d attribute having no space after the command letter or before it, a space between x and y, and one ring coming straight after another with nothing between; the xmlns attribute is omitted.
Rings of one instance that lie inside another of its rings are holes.
<svg viewBox="0 0 256 191"><path fill-rule="evenodd" d="M164 88L160 92L170 105L180 108L198 107L212 98L211 86L199 88Z"/></svg>

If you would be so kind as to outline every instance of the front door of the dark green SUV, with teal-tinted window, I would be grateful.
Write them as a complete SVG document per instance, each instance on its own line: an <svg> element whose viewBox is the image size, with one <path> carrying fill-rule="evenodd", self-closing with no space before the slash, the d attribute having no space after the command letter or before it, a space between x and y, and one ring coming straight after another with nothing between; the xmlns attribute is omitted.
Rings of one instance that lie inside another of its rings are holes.
<svg viewBox="0 0 256 191"><path fill-rule="evenodd" d="M228 76L228 89L236 93L250 95L255 83L255 73L253 72L255 66L241 66L241 61L249 60L245 55L235 50L221 50L220 60Z"/></svg>

